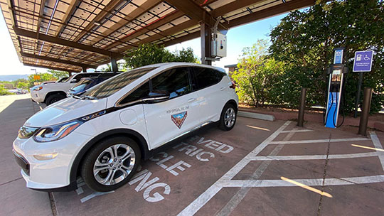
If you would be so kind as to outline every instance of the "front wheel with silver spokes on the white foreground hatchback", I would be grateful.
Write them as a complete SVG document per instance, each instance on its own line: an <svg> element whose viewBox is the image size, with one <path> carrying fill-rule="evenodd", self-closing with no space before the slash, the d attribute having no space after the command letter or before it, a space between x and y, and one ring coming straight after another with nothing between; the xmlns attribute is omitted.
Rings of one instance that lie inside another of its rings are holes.
<svg viewBox="0 0 384 216"><path fill-rule="evenodd" d="M117 157L111 155L115 152L114 149L117 149ZM123 159L125 153L130 153L131 156ZM115 136L100 141L91 148L82 161L81 176L92 190L100 192L115 190L132 178L140 160L140 148L134 140L127 136Z"/></svg>

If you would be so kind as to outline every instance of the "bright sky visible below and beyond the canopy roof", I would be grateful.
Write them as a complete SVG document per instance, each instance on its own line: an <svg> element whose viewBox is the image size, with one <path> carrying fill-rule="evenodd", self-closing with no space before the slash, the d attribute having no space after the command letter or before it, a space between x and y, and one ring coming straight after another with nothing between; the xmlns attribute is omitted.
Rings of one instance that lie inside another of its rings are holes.
<svg viewBox="0 0 384 216"><path fill-rule="evenodd" d="M272 18L266 18L261 21L256 21L254 23L231 28L227 33L227 57L221 58L220 61L214 62L213 65L224 68L225 65L233 65L238 63L238 58L242 53L242 48L252 46L258 39L269 40L270 37L268 34L270 33L270 30L274 26L277 26L277 24L280 22L280 19L286 15L287 13L284 13ZM0 41L0 75L25 75L34 73L35 71L31 69L36 69L37 72L46 72L46 69L44 68L24 66L18 60L14 44L11 41L11 36L9 36L9 31L8 28L6 28L6 23L2 13L0 13ZM195 53L195 55L200 60L200 38L178 43L176 45L171 45L167 47L167 49L174 51L188 47L193 48L193 53ZM101 70L101 67L97 69ZM90 70L88 70L88 72L90 72Z"/></svg>

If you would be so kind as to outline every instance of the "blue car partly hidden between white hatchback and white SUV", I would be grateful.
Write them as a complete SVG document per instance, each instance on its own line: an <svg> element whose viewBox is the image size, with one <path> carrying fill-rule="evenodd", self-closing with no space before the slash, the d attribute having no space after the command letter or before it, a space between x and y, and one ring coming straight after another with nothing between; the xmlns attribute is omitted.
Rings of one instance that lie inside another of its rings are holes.
<svg viewBox="0 0 384 216"><path fill-rule="evenodd" d="M74 87L72 87L67 92L67 96L70 97L73 95L80 95L90 87L94 87L95 85L105 80L108 80L110 77L113 77L114 75L118 75L118 73L104 73L96 77L82 78Z"/></svg>

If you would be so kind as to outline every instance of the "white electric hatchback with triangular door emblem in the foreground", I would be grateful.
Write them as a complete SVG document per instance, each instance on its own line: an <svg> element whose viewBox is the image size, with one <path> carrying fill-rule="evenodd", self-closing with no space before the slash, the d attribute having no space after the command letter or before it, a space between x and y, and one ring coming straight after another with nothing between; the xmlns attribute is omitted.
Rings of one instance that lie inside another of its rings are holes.
<svg viewBox="0 0 384 216"><path fill-rule="evenodd" d="M119 188L155 148L211 122L235 125L238 96L223 69L148 65L55 102L18 131L13 152L28 188Z"/></svg>

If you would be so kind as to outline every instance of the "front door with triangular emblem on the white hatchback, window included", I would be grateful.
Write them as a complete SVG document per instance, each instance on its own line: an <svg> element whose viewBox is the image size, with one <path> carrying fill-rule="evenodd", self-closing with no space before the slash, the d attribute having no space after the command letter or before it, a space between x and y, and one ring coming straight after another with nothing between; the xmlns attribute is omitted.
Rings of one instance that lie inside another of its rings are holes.
<svg viewBox="0 0 384 216"><path fill-rule="evenodd" d="M199 125L199 104L189 68L174 68L151 79L151 90L166 90L169 99L144 104L150 148L156 148Z"/></svg>

